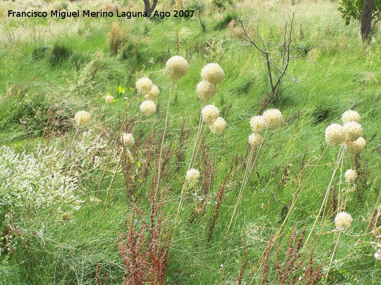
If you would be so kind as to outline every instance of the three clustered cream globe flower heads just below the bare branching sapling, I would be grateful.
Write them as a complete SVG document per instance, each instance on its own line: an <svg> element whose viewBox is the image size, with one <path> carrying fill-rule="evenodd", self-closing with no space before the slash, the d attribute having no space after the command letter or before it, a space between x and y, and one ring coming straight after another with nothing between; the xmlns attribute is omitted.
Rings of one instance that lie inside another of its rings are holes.
<svg viewBox="0 0 381 285"><path fill-rule="evenodd" d="M254 116L250 120L250 127L252 134L249 136L249 144L252 147L257 147L262 143L262 136L259 134L267 127L269 129L276 129L283 120L282 113L278 109L268 109L263 112L261 116Z"/></svg>

